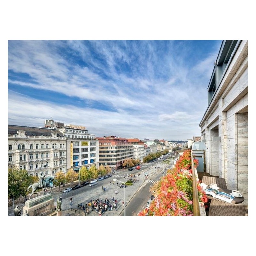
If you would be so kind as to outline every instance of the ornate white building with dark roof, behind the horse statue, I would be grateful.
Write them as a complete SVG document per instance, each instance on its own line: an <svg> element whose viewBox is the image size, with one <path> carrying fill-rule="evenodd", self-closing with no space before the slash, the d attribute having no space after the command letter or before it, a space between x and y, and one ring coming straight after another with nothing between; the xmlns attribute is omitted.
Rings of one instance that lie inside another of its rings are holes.
<svg viewBox="0 0 256 256"><path fill-rule="evenodd" d="M38 176L67 171L66 138L51 128L8 125L8 167Z"/></svg>

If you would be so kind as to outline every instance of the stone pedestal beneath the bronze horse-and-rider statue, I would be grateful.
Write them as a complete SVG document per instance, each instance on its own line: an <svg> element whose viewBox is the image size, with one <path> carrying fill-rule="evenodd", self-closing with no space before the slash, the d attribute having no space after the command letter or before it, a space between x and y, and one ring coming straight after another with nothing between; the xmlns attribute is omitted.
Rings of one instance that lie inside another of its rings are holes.
<svg viewBox="0 0 256 256"><path fill-rule="evenodd" d="M26 210L28 216L56 216L54 199L49 193L27 200L23 212Z"/></svg>

